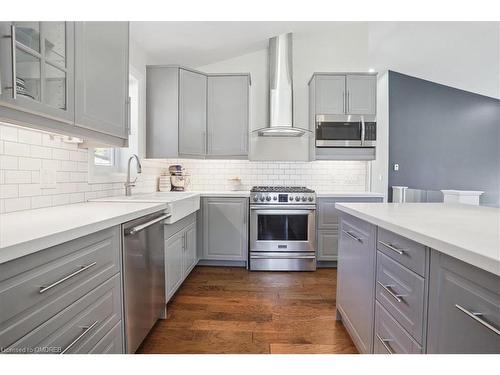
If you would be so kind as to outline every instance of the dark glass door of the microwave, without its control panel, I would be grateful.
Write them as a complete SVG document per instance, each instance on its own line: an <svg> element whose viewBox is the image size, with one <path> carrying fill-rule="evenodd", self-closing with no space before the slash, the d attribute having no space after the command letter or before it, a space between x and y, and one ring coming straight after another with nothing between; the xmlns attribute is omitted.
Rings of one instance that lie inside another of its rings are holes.
<svg viewBox="0 0 500 375"><path fill-rule="evenodd" d="M361 116L316 116L316 147L361 147L363 139Z"/></svg>

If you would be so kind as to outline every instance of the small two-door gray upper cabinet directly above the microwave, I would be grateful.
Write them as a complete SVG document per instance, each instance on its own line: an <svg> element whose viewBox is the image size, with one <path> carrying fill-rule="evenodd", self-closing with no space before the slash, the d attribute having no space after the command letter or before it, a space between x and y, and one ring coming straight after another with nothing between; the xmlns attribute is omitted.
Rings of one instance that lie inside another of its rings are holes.
<svg viewBox="0 0 500 375"><path fill-rule="evenodd" d="M315 74L311 82L310 87L315 90L314 111L318 115L376 114L376 75Z"/></svg>

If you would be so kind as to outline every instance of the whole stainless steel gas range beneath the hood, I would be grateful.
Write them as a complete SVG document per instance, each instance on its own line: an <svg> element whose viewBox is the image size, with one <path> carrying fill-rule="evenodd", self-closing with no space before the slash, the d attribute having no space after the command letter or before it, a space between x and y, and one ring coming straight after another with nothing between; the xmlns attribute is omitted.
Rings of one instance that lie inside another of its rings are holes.
<svg viewBox="0 0 500 375"><path fill-rule="evenodd" d="M298 186L250 190L250 270L316 270L316 194Z"/></svg>

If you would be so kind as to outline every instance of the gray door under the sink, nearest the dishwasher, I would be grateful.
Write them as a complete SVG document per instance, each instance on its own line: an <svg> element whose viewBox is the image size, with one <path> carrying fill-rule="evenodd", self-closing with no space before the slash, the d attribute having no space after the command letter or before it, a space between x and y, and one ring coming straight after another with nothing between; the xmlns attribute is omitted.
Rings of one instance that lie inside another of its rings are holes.
<svg viewBox="0 0 500 375"><path fill-rule="evenodd" d="M184 231L170 237L165 243L165 282L167 302L181 285L184 275Z"/></svg>

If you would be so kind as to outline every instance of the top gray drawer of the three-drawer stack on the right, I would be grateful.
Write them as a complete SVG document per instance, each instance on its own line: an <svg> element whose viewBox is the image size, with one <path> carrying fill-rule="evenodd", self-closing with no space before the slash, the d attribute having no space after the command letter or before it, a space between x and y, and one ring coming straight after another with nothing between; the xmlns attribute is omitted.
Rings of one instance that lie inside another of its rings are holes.
<svg viewBox="0 0 500 375"><path fill-rule="evenodd" d="M424 245L379 227L377 249L420 276L425 276Z"/></svg>

